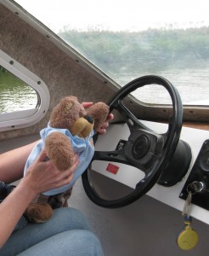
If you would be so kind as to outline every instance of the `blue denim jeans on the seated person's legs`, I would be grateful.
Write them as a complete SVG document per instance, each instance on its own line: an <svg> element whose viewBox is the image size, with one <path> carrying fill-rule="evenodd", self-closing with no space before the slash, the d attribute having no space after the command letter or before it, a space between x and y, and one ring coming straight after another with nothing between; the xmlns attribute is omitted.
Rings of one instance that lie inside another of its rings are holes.
<svg viewBox="0 0 209 256"><path fill-rule="evenodd" d="M89 231L86 218L73 208L54 210L43 224L26 224L14 232L0 249L1 256L102 256L100 242Z"/></svg>

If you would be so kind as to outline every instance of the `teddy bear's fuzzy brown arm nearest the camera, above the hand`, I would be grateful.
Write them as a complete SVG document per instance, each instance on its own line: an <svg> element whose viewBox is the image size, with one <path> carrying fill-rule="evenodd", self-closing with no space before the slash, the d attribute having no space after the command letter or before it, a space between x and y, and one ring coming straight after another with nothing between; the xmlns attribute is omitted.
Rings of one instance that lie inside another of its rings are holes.
<svg viewBox="0 0 209 256"><path fill-rule="evenodd" d="M65 171L71 167L74 152L71 141L65 134L55 131L48 135L45 141L45 149L48 158L52 160L59 171Z"/></svg>

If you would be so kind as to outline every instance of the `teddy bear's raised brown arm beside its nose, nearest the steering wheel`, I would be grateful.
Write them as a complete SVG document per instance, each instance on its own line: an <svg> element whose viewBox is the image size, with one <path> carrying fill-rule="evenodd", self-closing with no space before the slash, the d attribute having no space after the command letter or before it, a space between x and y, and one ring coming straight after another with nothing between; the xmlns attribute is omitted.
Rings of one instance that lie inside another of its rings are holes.
<svg viewBox="0 0 209 256"><path fill-rule="evenodd" d="M110 108L104 102L97 102L93 104L90 108L87 108L88 115L91 115L94 119L94 131L99 131L101 125L104 124L105 120L107 119Z"/></svg>

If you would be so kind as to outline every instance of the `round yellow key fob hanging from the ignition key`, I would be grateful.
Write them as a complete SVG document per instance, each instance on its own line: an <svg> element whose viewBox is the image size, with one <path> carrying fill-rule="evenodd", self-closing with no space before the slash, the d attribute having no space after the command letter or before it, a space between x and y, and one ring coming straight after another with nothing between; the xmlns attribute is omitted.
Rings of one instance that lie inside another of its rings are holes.
<svg viewBox="0 0 209 256"><path fill-rule="evenodd" d="M180 247L182 250L190 250L194 248L198 240L199 237L197 233L189 226L186 226L177 237L178 247Z"/></svg>

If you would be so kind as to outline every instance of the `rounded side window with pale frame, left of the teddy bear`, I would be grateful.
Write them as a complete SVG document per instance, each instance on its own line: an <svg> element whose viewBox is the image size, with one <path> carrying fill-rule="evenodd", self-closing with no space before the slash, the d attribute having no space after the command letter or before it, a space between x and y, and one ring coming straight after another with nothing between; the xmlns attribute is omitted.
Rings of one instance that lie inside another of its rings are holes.
<svg viewBox="0 0 209 256"><path fill-rule="evenodd" d="M48 104L46 84L0 50L0 131L36 124Z"/></svg>

